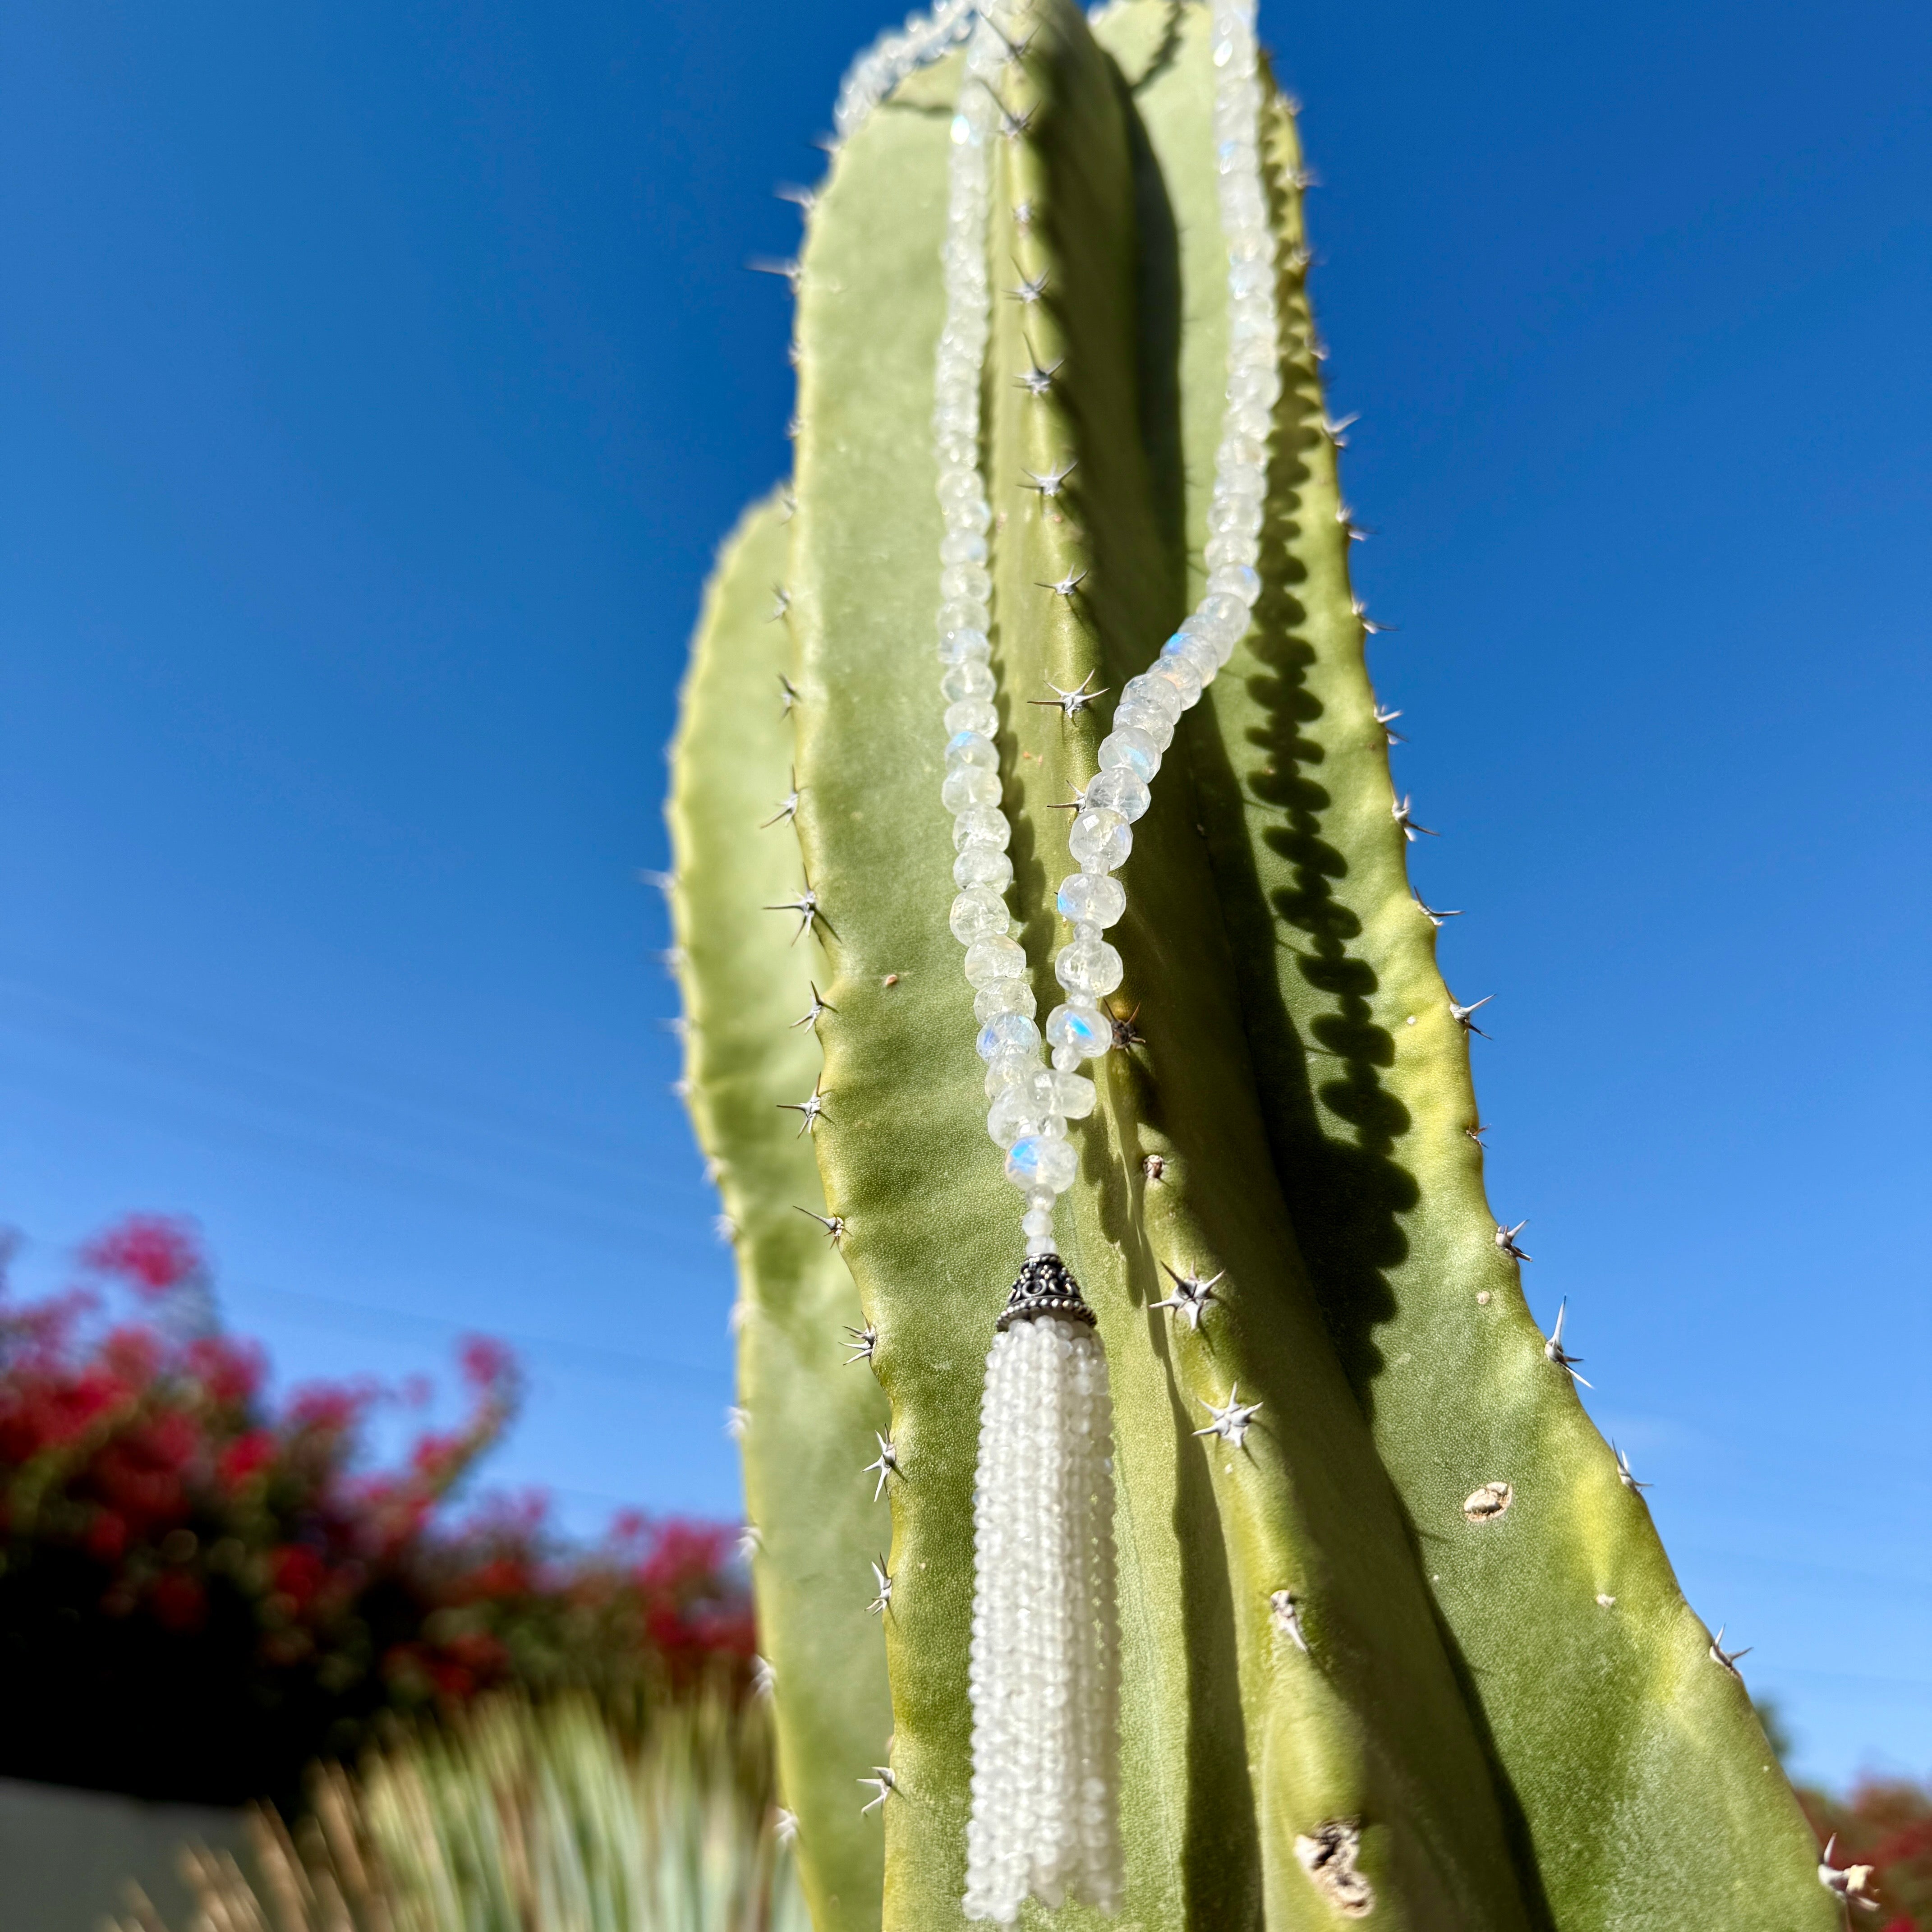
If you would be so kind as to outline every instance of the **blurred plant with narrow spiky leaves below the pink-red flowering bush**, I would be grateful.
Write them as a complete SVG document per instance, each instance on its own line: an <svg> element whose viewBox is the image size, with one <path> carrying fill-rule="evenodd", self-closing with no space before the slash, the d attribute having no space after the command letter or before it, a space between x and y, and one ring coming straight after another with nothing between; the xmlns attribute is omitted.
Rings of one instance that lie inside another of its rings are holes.
<svg viewBox="0 0 1932 1932"><path fill-rule="evenodd" d="M495 1696L319 1766L251 1866L189 1847L199 1932L808 1932L757 1712L699 1696L620 1735L587 1696ZM166 1932L137 1903L120 1932ZM185 1932L185 1928L178 1928Z"/></svg>

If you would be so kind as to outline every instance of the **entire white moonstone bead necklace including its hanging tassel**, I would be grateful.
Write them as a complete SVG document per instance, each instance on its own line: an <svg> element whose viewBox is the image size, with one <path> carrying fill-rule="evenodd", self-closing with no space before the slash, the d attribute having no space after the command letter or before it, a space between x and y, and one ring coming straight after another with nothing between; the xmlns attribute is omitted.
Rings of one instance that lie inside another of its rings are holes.
<svg viewBox="0 0 1932 1932"><path fill-rule="evenodd" d="M980 468L980 388L991 292L987 213L991 143L1009 43L981 15L966 44L952 120L945 240L947 321L939 336L933 433L939 456L939 657L947 699L947 775L958 858L952 931L966 947L987 1132L1007 1150L1007 1179L1026 1200L1026 1264L995 1323L980 1410L974 1490L972 1820L966 1917L1010 1924L1034 1893L1047 1905L1121 1901L1119 1627L1113 1573L1113 1410L1094 1314L1053 1240L1053 1206L1078 1155L1066 1122L1094 1111L1078 1072L1113 1045L1099 1001L1121 983L1105 929L1126 910L1115 873L1148 810L1148 786L1175 724L1229 661L1260 595L1254 572L1265 495L1269 413L1281 394L1275 354L1273 236L1260 162L1262 83L1254 0L1211 0L1215 160L1229 255L1227 412L1208 510L1208 589L1132 678L1099 746L1068 846L1080 871L1059 891L1072 939L1053 962L1065 1003L1047 1016L1051 1066L1026 954L1010 937L1010 827L1001 777L987 638L993 516ZM962 15L964 17L964 15ZM935 37L937 39L937 37Z"/></svg>

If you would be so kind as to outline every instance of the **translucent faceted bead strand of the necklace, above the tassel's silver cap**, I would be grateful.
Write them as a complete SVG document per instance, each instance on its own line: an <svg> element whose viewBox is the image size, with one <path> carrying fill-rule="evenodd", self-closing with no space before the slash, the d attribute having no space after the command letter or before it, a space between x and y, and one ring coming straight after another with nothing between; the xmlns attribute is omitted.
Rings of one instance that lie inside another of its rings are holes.
<svg viewBox="0 0 1932 1932"><path fill-rule="evenodd" d="M1173 744L1180 713L1200 699L1248 628L1262 591L1262 504L1267 493L1267 425L1281 394L1273 286L1273 236L1262 180L1262 79L1254 44L1254 0L1213 0L1215 166L1229 257L1227 408L1208 506L1208 585L1202 601L1130 678L1099 744L1099 775L1082 794L1068 848L1080 871L1059 891L1072 922L1053 974L1065 1003L1047 1016L1053 1066L1039 1065L1041 1030L1026 954L1012 937L1005 891L1010 827L999 810L999 715L987 626L993 589L985 568L991 510L980 473L980 367L989 325L985 220L987 143L999 112L991 70L1001 46L981 23L968 43L968 81L952 120L951 207L945 242L947 321L939 338L933 431L939 456L939 655L947 665L947 775L941 796L952 811L958 860L952 933L966 947L980 1055L985 1059L987 1132L1007 1150L1007 1179L1026 1196L1028 1254L1053 1252L1053 1204L1072 1186L1078 1157L1066 1122L1094 1111L1094 1082L1076 1068L1113 1045L1101 1001L1121 983L1121 954L1107 927L1126 912L1115 873L1134 848L1134 821ZM983 81L985 85L974 85Z"/></svg>

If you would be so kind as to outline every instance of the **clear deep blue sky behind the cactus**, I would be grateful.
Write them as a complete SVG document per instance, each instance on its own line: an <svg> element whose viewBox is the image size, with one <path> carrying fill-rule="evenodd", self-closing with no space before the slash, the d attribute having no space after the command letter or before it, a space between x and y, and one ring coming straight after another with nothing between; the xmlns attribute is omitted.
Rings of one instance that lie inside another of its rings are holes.
<svg viewBox="0 0 1932 1932"><path fill-rule="evenodd" d="M520 1341L498 1476L730 1513L663 744L881 19L0 21L0 1219L201 1219L284 1376ZM1932 1770L1932 43L1264 0L1495 1206L1801 1764Z"/></svg>

